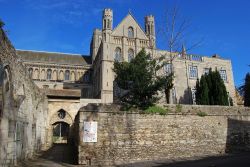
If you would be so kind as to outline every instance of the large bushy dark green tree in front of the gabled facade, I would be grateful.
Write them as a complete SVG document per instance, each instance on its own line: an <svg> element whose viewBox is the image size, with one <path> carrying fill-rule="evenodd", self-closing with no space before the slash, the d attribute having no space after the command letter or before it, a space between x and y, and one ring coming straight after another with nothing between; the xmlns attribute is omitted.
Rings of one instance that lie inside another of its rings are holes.
<svg viewBox="0 0 250 167"><path fill-rule="evenodd" d="M159 60L161 61L161 60ZM157 76L161 65L156 59L151 59L142 49L130 62L115 62L115 82L124 91L121 101L147 107L155 103L158 91L162 91L169 79L166 76Z"/></svg>

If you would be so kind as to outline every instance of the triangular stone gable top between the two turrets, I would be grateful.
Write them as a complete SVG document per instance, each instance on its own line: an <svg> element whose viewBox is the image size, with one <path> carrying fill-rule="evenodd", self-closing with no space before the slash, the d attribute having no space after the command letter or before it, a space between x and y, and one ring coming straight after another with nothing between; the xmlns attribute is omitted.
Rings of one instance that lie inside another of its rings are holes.
<svg viewBox="0 0 250 167"><path fill-rule="evenodd" d="M128 36L128 28L133 27L134 29L134 37L139 39L148 40L145 32L136 22L134 17L129 13L118 26L113 30L113 36Z"/></svg>

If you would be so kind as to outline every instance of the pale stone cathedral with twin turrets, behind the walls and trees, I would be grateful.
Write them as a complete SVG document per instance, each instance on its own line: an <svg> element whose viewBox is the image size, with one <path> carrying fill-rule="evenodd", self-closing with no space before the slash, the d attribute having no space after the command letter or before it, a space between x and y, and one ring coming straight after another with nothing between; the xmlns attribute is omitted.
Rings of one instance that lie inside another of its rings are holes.
<svg viewBox="0 0 250 167"><path fill-rule="evenodd" d="M30 77L50 98L99 99L102 103L113 103L119 94L114 84L114 61L130 61L142 48L153 58L170 59L167 50L157 49L155 26L154 16L145 16L145 28L142 28L129 12L113 27L113 11L104 9L102 29L93 32L90 55L26 50L17 50L17 54ZM195 104L196 81L210 68L220 72L235 103L231 61L218 55L187 54L184 48L162 69L162 72L173 69L175 74L170 103Z"/></svg>

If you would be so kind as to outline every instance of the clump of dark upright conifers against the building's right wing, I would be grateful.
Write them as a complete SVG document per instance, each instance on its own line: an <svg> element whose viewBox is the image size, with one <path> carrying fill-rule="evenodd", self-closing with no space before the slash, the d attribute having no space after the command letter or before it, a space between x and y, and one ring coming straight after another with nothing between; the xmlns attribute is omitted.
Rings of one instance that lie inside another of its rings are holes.
<svg viewBox="0 0 250 167"><path fill-rule="evenodd" d="M228 94L220 73L209 70L196 83L196 101L200 105L229 105Z"/></svg>

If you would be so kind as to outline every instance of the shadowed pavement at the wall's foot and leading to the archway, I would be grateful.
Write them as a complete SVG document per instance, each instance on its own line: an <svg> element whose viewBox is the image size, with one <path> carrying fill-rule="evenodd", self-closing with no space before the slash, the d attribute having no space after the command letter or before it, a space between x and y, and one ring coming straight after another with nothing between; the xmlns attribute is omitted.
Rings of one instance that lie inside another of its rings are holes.
<svg viewBox="0 0 250 167"><path fill-rule="evenodd" d="M54 144L48 151L32 160L21 162L19 167L79 167L76 153L70 145ZM174 160L144 161L120 167L250 167L250 152L216 157Z"/></svg>

